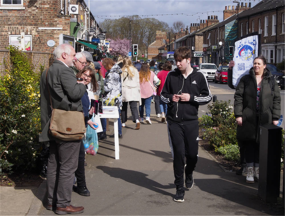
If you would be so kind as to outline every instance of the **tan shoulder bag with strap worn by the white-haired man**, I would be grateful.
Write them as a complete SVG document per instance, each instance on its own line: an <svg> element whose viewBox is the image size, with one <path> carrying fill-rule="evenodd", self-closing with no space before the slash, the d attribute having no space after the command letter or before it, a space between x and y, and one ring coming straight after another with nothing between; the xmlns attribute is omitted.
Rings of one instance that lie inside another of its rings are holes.
<svg viewBox="0 0 285 216"><path fill-rule="evenodd" d="M48 68L49 69L49 68ZM46 70L46 85L48 87ZM48 94L50 90L48 87ZM50 105L52 107L52 100L50 97ZM65 111L60 109L53 109L50 118L50 134L57 139L64 141L76 141L84 137L86 132L84 114L79 111Z"/></svg>

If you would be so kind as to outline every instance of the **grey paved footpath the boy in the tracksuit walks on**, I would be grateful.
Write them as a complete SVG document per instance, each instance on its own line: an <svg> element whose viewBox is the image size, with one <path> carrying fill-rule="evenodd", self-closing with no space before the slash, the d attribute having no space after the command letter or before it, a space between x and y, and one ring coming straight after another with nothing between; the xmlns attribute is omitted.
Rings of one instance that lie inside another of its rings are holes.
<svg viewBox="0 0 285 216"><path fill-rule="evenodd" d="M204 150L194 171L194 186L183 203L172 199L176 192L173 162L166 124L151 117L152 124L128 120L115 160L114 139L99 143L97 155L86 155L86 182L91 196L72 192L72 205L85 207L81 215L281 215L276 206L257 196L258 183L223 170ZM113 134L110 126L108 134ZM284 212L283 212L284 213ZM55 215L41 209L39 215Z"/></svg>

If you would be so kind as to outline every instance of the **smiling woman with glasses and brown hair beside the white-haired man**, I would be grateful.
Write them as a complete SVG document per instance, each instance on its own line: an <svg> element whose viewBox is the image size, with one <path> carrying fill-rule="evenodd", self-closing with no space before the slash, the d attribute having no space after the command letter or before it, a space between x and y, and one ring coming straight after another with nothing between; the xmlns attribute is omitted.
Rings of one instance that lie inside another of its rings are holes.
<svg viewBox="0 0 285 216"><path fill-rule="evenodd" d="M91 91L95 92L98 89L98 85L95 79L95 72L91 67L84 67L80 72L76 74L76 78L83 79L84 84L86 85L86 92L81 98L81 103L85 118L85 126L87 127L88 124L90 127L92 127L95 130L93 124L96 123L92 122L89 118L90 101L87 93L87 85L89 83L91 83ZM91 114L93 114L93 110L90 110L90 115ZM90 192L86 187L86 181L85 181L84 159L85 159L85 149L84 149L84 143L81 140L79 157L78 157L78 167L77 170L75 171L75 177L77 179L77 187L73 186L72 189L81 196L90 196Z"/></svg>

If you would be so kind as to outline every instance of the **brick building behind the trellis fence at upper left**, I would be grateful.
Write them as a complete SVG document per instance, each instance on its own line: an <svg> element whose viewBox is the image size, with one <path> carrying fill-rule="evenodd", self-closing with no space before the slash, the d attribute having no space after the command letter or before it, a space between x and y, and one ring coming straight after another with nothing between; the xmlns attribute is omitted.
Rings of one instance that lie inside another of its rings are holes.
<svg viewBox="0 0 285 216"><path fill-rule="evenodd" d="M78 15L68 11L70 5L76 5L76 2ZM71 36L68 42L73 46L75 44L72 36L75 40L91 41L100 29L91 12L88 16L85 2L71 0L68 5L64 3L65 1L56 0L40 2L21 0L21 4L5 5L1 1L0 49L7 48L9 44L17 44L23 34L25 34L24 50L38 52L53 52L54 47L60 44L60 38L64 35ZM48 43L49 40L53 40L54 45ZM18 43L21 44L21 41Z"/></svg>

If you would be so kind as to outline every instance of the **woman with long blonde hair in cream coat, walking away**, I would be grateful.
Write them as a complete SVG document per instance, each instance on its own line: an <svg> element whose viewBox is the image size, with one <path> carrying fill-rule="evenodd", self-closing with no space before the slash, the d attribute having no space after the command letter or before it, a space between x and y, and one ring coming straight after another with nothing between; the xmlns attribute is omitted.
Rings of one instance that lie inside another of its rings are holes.
<svg viewBox="0 0 285 216"><path fill-rule="evenodd" d="M130 104L133 122L136 123L136 130L140 129L139 122L139 112L137 108L137 102L141 101L140 94L140 81L139 81L139 72L133 66L131 59L125 57L123 59L122 67L122 111L121 111L121 120L122 127L125 127L125 122L127 122L127 108L128 102Z"/></svg>

